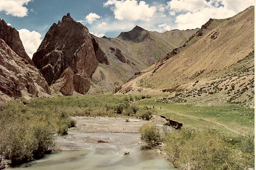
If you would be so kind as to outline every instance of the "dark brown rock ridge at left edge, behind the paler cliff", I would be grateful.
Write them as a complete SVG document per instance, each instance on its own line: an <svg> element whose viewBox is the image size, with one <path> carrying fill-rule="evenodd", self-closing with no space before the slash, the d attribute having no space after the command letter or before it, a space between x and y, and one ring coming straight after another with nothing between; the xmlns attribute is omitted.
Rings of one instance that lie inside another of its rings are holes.
<svg viewBox="0 0 256 170"><path fill-rule="evenodd" d="M2 39L18 56L24 58L27 63L33 65L33 61L26 54L25 48L20 40L19 32L8 26L7 23L0 19L0 39Z"/></svg>

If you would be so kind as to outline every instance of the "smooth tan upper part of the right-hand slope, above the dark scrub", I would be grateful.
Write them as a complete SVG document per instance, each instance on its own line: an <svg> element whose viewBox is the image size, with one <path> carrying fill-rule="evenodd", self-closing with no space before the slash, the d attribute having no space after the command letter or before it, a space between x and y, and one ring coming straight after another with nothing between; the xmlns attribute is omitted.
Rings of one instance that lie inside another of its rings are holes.
<svg viewBox="0 0 256 170"><path fill-rule="evenodd" d="M155 87L182 85L245 58L254 50L254 7L233 16L170 58L150 79ZM145 82L144 85L148 85Z"/></svg>

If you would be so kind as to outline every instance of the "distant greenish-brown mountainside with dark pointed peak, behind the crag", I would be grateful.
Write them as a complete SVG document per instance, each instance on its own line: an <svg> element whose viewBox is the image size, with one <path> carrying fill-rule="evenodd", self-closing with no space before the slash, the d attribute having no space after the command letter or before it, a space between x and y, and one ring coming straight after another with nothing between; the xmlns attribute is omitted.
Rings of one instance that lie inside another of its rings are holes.
<svg viewBox="0 0 256 170"><path fill-rule="evenodd" d="M89 93L113 90L136 72L163 58L167 52L183 45L197 30L172 30L159 33L136 26L129 32L122 32L118 38L94 36L108 57L109 65L98 65L92 75Z"/></svg>

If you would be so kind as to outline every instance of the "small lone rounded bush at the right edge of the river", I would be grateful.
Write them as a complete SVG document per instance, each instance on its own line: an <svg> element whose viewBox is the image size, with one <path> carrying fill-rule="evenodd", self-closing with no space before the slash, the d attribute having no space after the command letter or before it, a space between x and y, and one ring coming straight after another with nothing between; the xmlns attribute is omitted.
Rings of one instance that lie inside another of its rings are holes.
<svg viewBox="0 0 256 170"><path fill-rule="evenodd" d="M150 148L153 148L161 141L160 133L153 122L148 122L139 128L141 140L144 141Z"/></svg>

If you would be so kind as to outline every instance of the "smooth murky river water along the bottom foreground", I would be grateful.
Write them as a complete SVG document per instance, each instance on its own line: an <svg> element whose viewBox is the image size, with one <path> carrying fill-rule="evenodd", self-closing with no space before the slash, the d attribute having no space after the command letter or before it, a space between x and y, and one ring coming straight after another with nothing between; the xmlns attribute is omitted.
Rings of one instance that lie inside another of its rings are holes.
<svg viewBox="0 0 256 170"><path fill-rule="evenodd" d="M96 154L90 150L63 151L51 154L21 167L19 170L174 170L155 151L135 151L130 155Z"/></svg>

